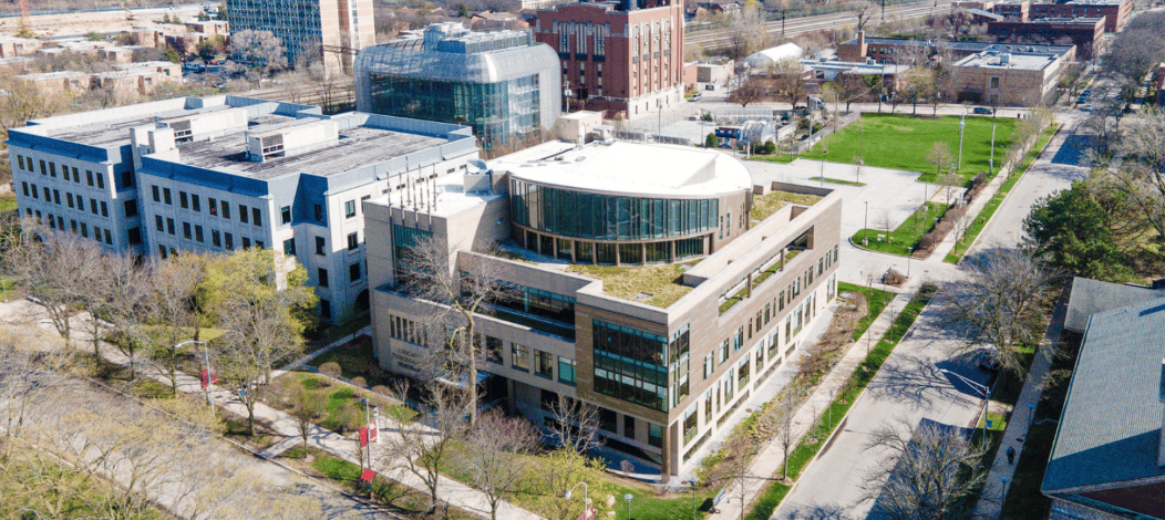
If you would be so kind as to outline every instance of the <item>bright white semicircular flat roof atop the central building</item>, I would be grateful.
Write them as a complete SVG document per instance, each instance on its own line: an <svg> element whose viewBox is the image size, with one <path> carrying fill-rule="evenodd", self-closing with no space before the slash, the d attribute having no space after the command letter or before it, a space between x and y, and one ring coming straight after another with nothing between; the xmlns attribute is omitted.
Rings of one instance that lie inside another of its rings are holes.
<svg viewBox="0 0 1165 520"><path fill-rule="evenodd" d="M541 144L490 163L515 178L594 193L714 197L751 190L740 161L690 147L615 141L610 144Z"/></svg>

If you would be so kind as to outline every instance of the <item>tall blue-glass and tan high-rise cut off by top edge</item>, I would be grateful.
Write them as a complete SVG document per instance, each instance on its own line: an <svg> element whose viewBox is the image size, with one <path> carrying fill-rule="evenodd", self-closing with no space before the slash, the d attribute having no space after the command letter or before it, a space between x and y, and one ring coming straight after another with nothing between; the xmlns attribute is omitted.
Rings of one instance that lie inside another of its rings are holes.
<svg viewBox="0 0 1165 520"><path fill-rule="evenodd" d="M283 40L290 65L303 52L323 52L324 65L338 71L376 43L372 0L226 0L226 17L232 34L269 30Z"/></svg>

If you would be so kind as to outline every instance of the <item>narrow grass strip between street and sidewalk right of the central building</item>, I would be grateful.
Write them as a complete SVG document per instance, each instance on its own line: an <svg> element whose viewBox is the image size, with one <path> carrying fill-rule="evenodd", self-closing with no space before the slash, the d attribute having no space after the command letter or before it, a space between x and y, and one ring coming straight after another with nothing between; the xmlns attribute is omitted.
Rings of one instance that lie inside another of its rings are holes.
<svg viewBox="0 0 1165 520"><path fill-rule="evenodd" d="M789 454L789 478L796 480L805 466L809 465L810 461L821 450L821 447L833 433L834 427L838 426L838 421L846 415L846 412L853 406L857 396L874 379L878 369L890 357L894 348L902 341L902 336L906 334L906 330L910 330L915 320L918 319L918 314L923 312L923 308L926 307L926 304L931 301L933 295L934 286L926 286L915 294L910 304L906 304L902 313L895 318L894 325L890 326L890 330L885 333L885 336L870 350L870 354L866 356L866 359L857 366L857 370L846 379L846 383L842 385L841 391L838 392L838 397L829 405L829 408L821 412L817 425L805 433L797 448ZM832 425L825 421L827 414L832 414ZM779 478L781 475L779 468L774 469L772 478ZM771 480L754 499L751 504L753 508L744 518L748 520L768 520L777 506L781 505L781 500L785 498L785 494L789 494L789 490L790 486L778 480Z"/></svg>

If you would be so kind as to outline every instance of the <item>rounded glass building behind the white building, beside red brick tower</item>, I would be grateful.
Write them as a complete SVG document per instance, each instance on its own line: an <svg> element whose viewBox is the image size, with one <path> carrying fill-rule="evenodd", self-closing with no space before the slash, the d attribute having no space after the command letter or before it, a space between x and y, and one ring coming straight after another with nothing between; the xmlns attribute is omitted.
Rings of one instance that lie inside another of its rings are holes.
<svg viewBox="0 0 1165 520"><path fill-rule="evenodd" d="M365 48L356 57L360 111L473 127L482 147L550 129L562 115L558 56L529 33L472 33L435 23L422 37Z"/></svg>

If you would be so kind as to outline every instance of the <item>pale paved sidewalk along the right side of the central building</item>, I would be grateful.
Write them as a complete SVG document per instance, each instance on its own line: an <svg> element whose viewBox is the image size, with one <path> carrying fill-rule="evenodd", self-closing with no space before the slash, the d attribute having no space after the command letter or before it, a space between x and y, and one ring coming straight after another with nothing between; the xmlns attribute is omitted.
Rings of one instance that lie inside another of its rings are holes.
<svg viewBox="0 0 1165 520"><path fill-rule="evenodd" d="M906 304L913 297L915 292L922 286L920 277L915 277L903 286L894 299L882 309L877 319L870 323L870 327L866 330L861 337L857 339L850 347L849 351L841 358L840 362L829 371L828 375L821 383L817 386L812 394L802 404L800 408L793 415L793 428L795 428L795 441L793 444L800 442L800 439L817 421L818 415L821 411L833 401L829 397L831 392L836 392L845 384L846 379L857 370L857 366L866 358L867 351L866 346L876 344L877 341L882 339L883 335L890 329L890 325L894 319L905 308ZM835 421L840 421L841 418L833 418ZM756 498L757 493L764 487L769 482L769 477L774 477L775 472L781 464L784 463L784 456L781 449L781 444L774 440L767 446L753 465L749 466L748 473L753 478L748 478L744 482L744 497L743 505L748 505ZM708 515L708 520L732 520L742 518L741 515L741 489L735 483L727 487L727 493L722 503L720 503L718 512Z"/></svg>

